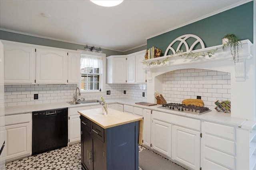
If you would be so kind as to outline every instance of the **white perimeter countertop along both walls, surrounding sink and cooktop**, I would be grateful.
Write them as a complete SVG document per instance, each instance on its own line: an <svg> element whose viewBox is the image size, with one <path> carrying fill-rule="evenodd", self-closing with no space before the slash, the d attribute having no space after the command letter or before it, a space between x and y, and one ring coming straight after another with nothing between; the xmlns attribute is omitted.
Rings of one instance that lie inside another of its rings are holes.
<svg viewBox="0 0 256 170"><path fill-rule="evenodd" d="M156 106L138 105L135 103L142 102L142 101L138 101L138 100L134 100L134 99L116 98L116 99L105 99L105 101L108 104L113 104L113 103L126 104L126 105L130 105L130 106L142 107L142 108L146 108L146 109L163 111L166 113L172 113L175 115L190 117L193 119L200 119L200 120L204 120L204 121L213 121L216 123L223 123L226 125L242 127L243 129L249 129L249 130L252 129L253 126L256 125L256 121L252 121L251 123L245 123L246 119L231 117L230 113L217 112L214 109L212 109L212 111L210 111L208 113L204 113L202 115L194 115L192 113L186 113L186 112L182 112L182 111L158 108L161 105L156 105ZM64 108L64 107L82 107L82 106L92 106L92 105L98 105L98 103L70 105L67 102L58 102L58 103L35 104L35 105L26 105L26 106L8 106L8 107L5 107L5 115L28 113L28 112L32 112L32 111L40 111L40 110L48 110L48 109L58 109L58 108Z"/></svg>

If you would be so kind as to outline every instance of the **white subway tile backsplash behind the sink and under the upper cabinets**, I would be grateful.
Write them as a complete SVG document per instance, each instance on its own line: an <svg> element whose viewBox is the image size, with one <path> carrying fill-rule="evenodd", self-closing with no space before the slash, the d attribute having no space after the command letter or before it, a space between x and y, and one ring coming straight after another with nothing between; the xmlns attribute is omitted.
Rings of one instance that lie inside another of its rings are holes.
<svg viewBox="0 0 256 170"><path fill-rule="evenodd" d="M106 84L106 90L110 90L110 95L90 95L81 93L78 98L86 100L104 98L131 98L146 102L146 84ZM123 91L126 90L126 94ZM76 91L76 84L56 84L56 85L5 85L4 102L5 106L21 106L30 104L43 104L53 102L69 102L73 100ZM145 92L145 97L142 97ZM34 94L38 94L38 100L34 100Z"/></svg>

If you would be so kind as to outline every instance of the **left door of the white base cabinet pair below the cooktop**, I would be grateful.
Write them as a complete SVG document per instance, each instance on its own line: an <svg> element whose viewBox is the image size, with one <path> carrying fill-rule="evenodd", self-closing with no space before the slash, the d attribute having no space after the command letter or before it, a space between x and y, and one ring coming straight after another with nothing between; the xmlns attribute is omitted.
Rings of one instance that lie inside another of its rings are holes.
<svg viewBox="0 0 256 170"><path fill-rule="evenodd" d="M152 148L171 158L172 125L153 119L151 132Z"/></svg>

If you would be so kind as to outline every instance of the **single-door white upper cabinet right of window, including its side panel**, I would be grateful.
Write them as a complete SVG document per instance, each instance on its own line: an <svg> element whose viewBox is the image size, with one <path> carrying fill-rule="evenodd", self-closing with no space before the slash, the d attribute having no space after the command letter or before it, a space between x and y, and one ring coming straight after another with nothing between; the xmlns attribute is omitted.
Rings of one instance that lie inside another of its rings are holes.
<svg viewBox="0 0 256 170"><path fill-rule="evenodd" d="M107 57L107 83L125 83L126 82L126 56L116 55Z"/></svg>

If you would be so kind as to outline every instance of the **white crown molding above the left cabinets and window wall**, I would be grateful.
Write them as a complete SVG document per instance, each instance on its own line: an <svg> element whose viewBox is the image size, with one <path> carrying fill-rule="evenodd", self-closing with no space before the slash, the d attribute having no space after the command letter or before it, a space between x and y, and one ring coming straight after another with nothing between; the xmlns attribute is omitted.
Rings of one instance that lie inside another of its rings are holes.
<svg viewBox="0 0 256 170"><path fill-rule="evenodd" d="M20 31L14 31L14 30L10 30L10 29L4 29L4 28L0 28L1 31L7 31L7 32L12 32L12 33L18 33L18 34L22 34L22 35L28 35L28 36L33 36L33 37L38 37L38 38L45 38L45 39L51 39L51 40L55 40L55 41L62 41L65 43L72 43L72 44L78 44L78 45L88 45L88 44L84 44L84 43L80 43L80 42L74 42L74 41L67 41L67 40L63 40L63 39L56 39L56 38L51 38L51 37L45 37L45 36L41 36L41 35L34 35L34 34L30 34L30 33L24 33L24 32L20 32ZM93 45L88 45L90 47L92 47ZM112 51L119 51L119 52L125 52L125 51L120 51L117 49L110 49L110 48L105 48L100 46L102 49L106 49L106 50L112 50Z"/></svg>

